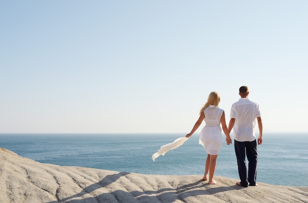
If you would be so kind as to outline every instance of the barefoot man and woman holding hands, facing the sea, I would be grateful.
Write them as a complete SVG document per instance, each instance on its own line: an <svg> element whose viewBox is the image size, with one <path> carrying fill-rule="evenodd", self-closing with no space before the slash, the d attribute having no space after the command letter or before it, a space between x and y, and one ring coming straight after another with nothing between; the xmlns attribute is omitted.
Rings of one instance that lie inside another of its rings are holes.
<svg viewBox="0 0 308 203"><path fill-rule="evenodd" d="M230 138L230 132L233 128L234 148L238 162L238 169L241 181L237 182L237 185L247 187L248 183L250 186L256 184L257 174L257 142L258 145L262 144L262 120L259 110L259 105L256 102L248 99L249 90L248 87L240 87L241 99L232 104L229 127L226 125L225 114L222 109L218 107L220 96L217 92L211 92L208 101L200 110L200 117L190 133L186 137L190 137L196 129L201 125L202 120L205 121L206 125L200 132L199 144L203 145L206 152L208 153L205 162L205 173L203 180L208 179L209 184L216 184L217 182L213 179L216 160L218 153L221 149L222 136L221 128L226 135L226 143L230 145L232 140ZM259 128L259 137L256 141L254 134L255 120L257 119ZM246 155L245 155L246 154ZM248 178L246 170L246 156L248 160Z"/></svg>

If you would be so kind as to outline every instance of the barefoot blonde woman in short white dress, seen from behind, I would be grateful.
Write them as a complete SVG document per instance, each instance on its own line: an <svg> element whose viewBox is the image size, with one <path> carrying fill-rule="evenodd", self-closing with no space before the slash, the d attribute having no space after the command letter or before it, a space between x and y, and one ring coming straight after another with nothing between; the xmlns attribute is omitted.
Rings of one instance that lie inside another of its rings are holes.
<svg viewBox="0 0 308 203"><path fill-rule="evenodd" d="M222 143L220 123L222 130L226 135L227 145L230 145L230 143L232 143L232 140L229 135L229 130L226 125L224 111L218 107L219 101L219 94L217 92L211 92L208 101L200 110L200 117L198 121L191 129L190 133L186 134L187 138L190 137L201 125L202 120L205 121L205 127L203 127L200 132L199 144L203 145L206 152L208 153L205 162L205 173L202 179L207 180L208 174L210 174L209 184L217 183L213 179L213 177L216 169L217 156L221 149Z"/></svg>

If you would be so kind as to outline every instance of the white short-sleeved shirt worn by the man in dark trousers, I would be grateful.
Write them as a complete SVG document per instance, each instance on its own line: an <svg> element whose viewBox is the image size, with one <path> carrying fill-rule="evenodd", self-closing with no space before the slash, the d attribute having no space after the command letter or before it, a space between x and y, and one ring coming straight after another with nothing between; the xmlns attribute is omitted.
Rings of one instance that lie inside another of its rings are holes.
<svg viewBox="0 0 308 203"><path fill-rule="evenodd" d="M248 98L233 103L230 113L230 118L235 118L233 139L239 142L255 140L256 118L260 116L259 104Z"/></svg>

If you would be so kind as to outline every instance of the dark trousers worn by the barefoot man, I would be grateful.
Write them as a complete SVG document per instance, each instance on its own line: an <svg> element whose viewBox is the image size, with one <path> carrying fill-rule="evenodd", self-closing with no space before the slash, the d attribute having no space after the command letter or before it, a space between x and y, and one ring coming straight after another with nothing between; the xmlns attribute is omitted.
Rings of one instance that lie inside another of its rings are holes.
<svg viewBox="0 0 308 203"><path fill-rule="evenodd" d="M244 187L256 184L257 176L257 141L252 142L239 142L234 140L234 148L236 159L238 161L239 175L241 179L241 185ZM246 153L246 155L245 155ZM247 179L247 168L246 168L246 156L248 160L248 179Z"/></svg>

